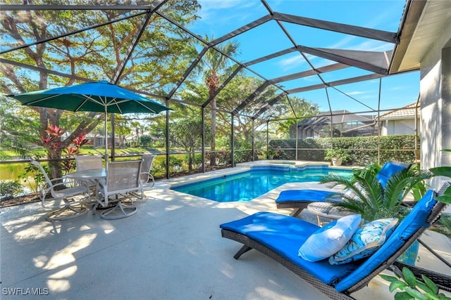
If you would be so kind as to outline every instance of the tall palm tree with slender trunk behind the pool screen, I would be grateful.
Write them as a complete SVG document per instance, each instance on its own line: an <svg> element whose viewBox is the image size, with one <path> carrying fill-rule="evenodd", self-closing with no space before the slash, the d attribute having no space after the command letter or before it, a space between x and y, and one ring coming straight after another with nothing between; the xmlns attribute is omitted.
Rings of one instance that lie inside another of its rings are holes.
<svg viewBox="0 0 451 300"><path fill-rule="evenodd" d="M213 41L214 37L205 37L206 41ZM233 56L238 53L238 47L240 44L237 41L228 41L226 44L217 45L216 48L221 50L228 56ZM206 52L204 59L199 63L202 67L202 72L204 73L204 81L209 89L209 97L213 96L215 91L221 84L219 75L221 73L226 73L229 69L229 60L227 56L224 56L221 52L214 49L209 49ZM214 151L216 150L216 97L211 99L211 165L216 164L216 155Z"/></svg>

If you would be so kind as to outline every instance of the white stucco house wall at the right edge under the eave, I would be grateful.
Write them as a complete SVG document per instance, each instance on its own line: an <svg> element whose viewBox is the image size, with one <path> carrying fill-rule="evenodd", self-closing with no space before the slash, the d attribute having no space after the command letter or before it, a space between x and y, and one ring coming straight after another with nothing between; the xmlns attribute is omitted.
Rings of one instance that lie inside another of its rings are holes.
<svg viewBox="0 0 451 300"><path fill-rule="evenodd" d="M421 60L421 168L451 166L451 24ZM437 188L440 178L434 178Z"/></svg>

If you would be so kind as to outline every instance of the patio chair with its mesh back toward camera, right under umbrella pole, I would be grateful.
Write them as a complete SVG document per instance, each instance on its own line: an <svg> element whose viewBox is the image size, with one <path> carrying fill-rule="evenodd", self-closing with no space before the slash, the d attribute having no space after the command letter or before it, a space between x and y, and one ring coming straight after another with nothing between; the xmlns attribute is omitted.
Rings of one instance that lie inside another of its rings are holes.
<svg viewBox="0 0 451 300"><path fill-rule="evenodd" d="M142 159L109 163L106 180L99 181L99 193L96 195L92 214L96 214L99 205L106 208L100 214L101 219L123 219L136 214L137 207L132 205L132 200L137 193L143 195L141 164ZM123 204L124 200L130 200L131 204ZM109 204L115 205L109 208Z"/></svg>

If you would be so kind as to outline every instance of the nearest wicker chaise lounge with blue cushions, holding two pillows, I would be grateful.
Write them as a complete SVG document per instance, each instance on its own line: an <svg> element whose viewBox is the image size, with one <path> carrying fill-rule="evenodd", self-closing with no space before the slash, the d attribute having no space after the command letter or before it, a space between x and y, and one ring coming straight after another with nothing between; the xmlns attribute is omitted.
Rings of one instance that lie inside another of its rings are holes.
<svg viewBox="0 0 451 300"><path fill-rule="evenodd" d="M442 191L445 188L439 194ZM434 197L435 192L429 190L371 256L340 265L331 265L328 259L311 262L298 256L299 247L320 227L292 216L259 212L223 223L220 226L221 234L222 237L244 244L235 254L235 259L256 249L292 270L331 299L353 299L350 294L362 289L385 268L403 266L395 260L440 216L445 207ZM449 275L408 267L416 275L423 273L434 280L440 289L451 291Z"/></svg>

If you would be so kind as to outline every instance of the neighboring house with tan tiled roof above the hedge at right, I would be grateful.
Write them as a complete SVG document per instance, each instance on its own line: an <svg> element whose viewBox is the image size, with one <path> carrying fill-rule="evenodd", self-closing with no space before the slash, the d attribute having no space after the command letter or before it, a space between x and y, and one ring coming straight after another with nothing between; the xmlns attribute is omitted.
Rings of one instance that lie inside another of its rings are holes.
<svg viewBox="0 0 451 300"><path fill-rule="evenodd" d="M420 107L416 103L392 110L379 117L381 120L381 136L420 133Z"/></svg>

